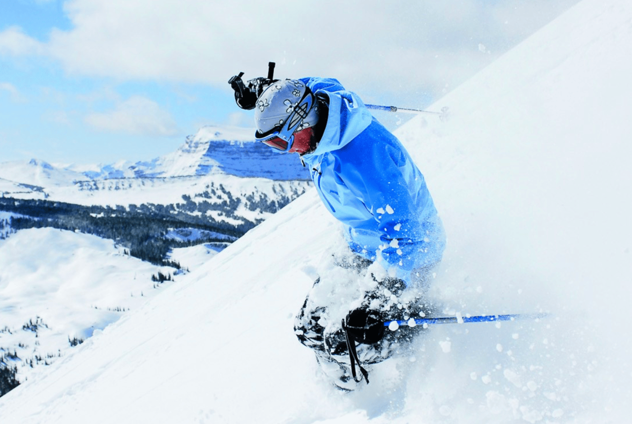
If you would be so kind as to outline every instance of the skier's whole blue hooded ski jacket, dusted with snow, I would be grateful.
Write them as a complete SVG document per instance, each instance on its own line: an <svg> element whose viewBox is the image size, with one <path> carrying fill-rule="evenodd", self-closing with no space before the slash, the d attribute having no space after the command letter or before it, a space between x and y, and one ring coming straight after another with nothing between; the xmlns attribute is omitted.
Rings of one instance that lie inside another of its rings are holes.
<svg viewBox="0 0 632 424"><path fill-rule="evenodd" d="M422 173L362 100L332 78L301 78L329 99L324 134L303 154L325 207L344 225L353 252L410 284L441 260L446 237Z"/></svg>

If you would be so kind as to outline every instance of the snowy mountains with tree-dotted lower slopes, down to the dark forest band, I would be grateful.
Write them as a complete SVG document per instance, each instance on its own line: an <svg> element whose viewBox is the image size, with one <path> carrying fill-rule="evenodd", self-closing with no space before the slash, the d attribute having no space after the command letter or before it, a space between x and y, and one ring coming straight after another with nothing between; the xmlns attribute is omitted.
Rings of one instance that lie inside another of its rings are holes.
<svg viewBox="0 0 632 424"><path fill-rule="evenodd" d="M126 209L181 204L179 210L192 215L254 225L305 192L310 181L297 158L254 142L252 134L247 128L202 127L177 151L133 164L4 162L0 197Z"/></svg>

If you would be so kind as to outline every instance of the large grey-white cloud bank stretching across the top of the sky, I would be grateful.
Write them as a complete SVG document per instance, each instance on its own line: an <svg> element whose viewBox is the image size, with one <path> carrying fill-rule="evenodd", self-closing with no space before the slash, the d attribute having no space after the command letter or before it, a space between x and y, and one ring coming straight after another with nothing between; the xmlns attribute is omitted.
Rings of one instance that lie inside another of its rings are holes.
<svg viewBox="0 0 632 424"><path fill-rule="evenodd" d="M68 0L70 30L52 30L42 46L9 28L0 53L39 51L78 75L227 92L231 75L265 75L276 61L278 77L336 77L378 100L414 100L452 89L577 1Z"/></svg>

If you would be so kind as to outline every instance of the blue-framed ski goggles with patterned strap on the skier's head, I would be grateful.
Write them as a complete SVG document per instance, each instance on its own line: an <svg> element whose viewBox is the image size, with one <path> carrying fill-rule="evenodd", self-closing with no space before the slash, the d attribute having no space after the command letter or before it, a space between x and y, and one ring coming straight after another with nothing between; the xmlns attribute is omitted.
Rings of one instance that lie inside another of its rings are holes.
<svg viewBox="0 0 632 424"><path fill-rule="evenodd" d="M303 120L307 117L308 113L310 113L310 110L312 110L314 102L315 96L310 89L305 87L303 97L293 106L285 122L264 133L255 132L255 140L278 151L288 152L294 142L295 131L301 127Z"/></svg>

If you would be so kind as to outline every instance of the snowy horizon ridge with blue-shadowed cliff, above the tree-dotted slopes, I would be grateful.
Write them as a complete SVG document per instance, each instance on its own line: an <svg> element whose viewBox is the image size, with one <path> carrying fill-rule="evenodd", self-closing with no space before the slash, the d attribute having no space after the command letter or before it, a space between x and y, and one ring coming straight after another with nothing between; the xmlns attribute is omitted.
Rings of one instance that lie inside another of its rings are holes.
<svg viewBox="0 0 632 424"><path fill-rule="evenodd" d="M50 187L70 187L86 181L121 178L173 178L193 175L234 175L271 180L308 180L296 158L278 154L255 142L250 128L202 127L186 137L173 153L150 161L121 161L108 165L51 165L32 159L0 163L0 192L32 186L30 196L42 196ZM19 192L19 191L18 191ZM20 192L21 196L26 196Z"/></svg>

